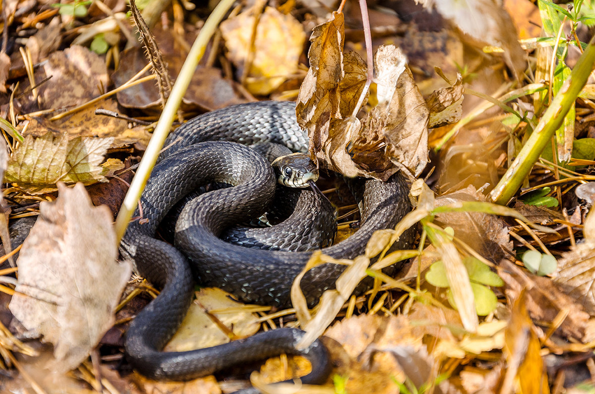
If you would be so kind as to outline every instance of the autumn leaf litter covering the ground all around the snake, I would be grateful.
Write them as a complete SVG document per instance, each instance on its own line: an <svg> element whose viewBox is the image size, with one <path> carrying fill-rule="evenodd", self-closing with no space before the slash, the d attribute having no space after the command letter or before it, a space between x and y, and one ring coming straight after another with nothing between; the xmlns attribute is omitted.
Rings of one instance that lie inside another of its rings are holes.
<svg viewBox="0 0 595 394"><path fill-rule="evenodd" d="M18 215L35 214L35 204L44 202L40 206L39 226L36 224L32 230L17 260L18 279L6 279L8 287L2 284L12 295L10 309L15 317L12 333L2 329L0 336L4 366L16 365L21 377L26 377L23 384L39 387L35 383L37 378L23 372L26 360L14 358L11 353L33 354L32 349L21 345L13 336L19 327L28 326L38 330L35 334L42 334L44 341L54 343L52 357L61 360L54 362L58 370L79 367L76 377L80 388L92 387L100 391L103 385L104 392L118 392L116 387L133 384L134 390L139 388L145 392L217 392L220 385L212 378L184 384L161 383L149 382L137 374L115 372L114 361L121 359L117 346L121 344L126 321L134 315L135 308L144 304L128 300L138 293L143 294L138 298L150 298L155 290L131 282L124 292L126 302L120 305L123 309L118 312L114 325L115 306L130 273L129 268L122 265L125 263L118 265L116 262L115 241L109 238L112 236L109 235L109 214L105 209L99 213L90 207L80 184L72 190L57 186L60 181L90 184L108 179L126 185L123 174L118 172L122 167L120 160L138 154L126 145L136 144L134 147L142 149L151 129L136 126L129 131L127 122L130 120L108 117L98 120L93 113L96 108L115 112L124 108L132 116L154 120L154 111L162 105L154 81L146 80L104 101L93 102L88 108L67 113L64 119L55 116L68 108L86 105L114 89L112 84L123 86L145 67L142 52L136 43L129 41L131 29L126 25L129 21L124 17L123 8L115 11L119 6L114 5L115 15L108 15L105 8L99 7L101 10L95 10L93 16L77 16L67 15L67 9L61 5L60 13L37 15L33 3L27 7L24 2L10 3L7 10L11 17L4 18L8 29L5 32L12 46L26 43L23 51L4 45L0 51L0 110L2 117L23 133L25 139L17 143L7 137L10 158L5 182L11 183L11 187L5 189L4 194L8 207L18 211ZM546 160L538 162L525 179L525 186L550 187L540 198L557 201L557 207L527 205L534 204L529 199L523 199L525 204L516 201L513 208L499 207L489 202L488 195L511 165L524 142L524 135L537 124L543 112L540 108L549 105L549 101L544 101L547 95L543 95L546 86L539 83L544 80L561 86L559 78L568 74L561 71L551 76L540 74L541 80L532 80L532 73L525 74L528 52L522 48L527 48L527 43L518 42L516 30L521 32L519 34L533 32L529 33L532 38L536 38L537 33L531 23L515 12L508 14L489 1L473 5L451 1L421 3L428 10L416 11L413 21L390 17L406 26L400 33L399 28L394 27L382 32L372 23L376 53L373 81L367 79L368 64L358 54L362 43L353 40L358 36L353 34L358 29L352 29L352 14L356 12L333 12L327 18L327 11L321 14L318 4L303 2L299 8L293 7L291 2L280 7L261 2L250 9L238 8L222 24L221 35L212 40L203 64L195 73L183 111L190 114L252 101L253 95L295 98L297 94L298 120L308 130L311 153L320 159L323 167L348 176L378 179L387 179L402 170L412 179L423 177L432 189L425 186L423 180L414 183L415 211L396 229L374 234L364 256L352 261L331 261L324 255L313 254L305 270L321 263L349 266L337 281L336 289L322 296L315 311L306 308L296 284L292 293L295 309L287 311L207 306L212 300L208 296L206 301L199 301L202 307L194 307L202 312L206 310L208 319L205 323L185 323L176 339L181 345L176 346L211 346L212 343L203 342L211 335L223 340L248 335L266 321L270 328L302 327L308 332L306 340L323 335L335 364L333 382L325 386L332 392L340 392L341 387L346 392L379 393L406 390L561 392L562 387L572 387L580 381L580 376L573 377L574 380L566 376L564 365L574 366L575 361L570 358L572 352L587 355L585 359L588 359L593 350L592 282L595 274L590 254L593 238L590 221L593 219L587 213L588 205L581 204L581 197L574 196L573 190L574 186L591 180L590 176L576 165L552 165L556 158L551 152L562 148L550 148L550 153L543 155ZM583 5L580 11L580 5L575 4L573 11L560 10L560 6L547 1L534 4L511 0L506 2L506 9L523 7L531 15L540 15L537 20L532 18L533 23L543 23L546 27L561 27L566 17L571 33L566 43L560 44L566 45L563 51L560 51L562 46L558 46L559 51L550 51L549 55L529 52L531 57L537 57L537 64L551 63L552 59L556 64L563 64L565 50L575 45L572 40L587 42L589 38L581 33L578 20L590 17L591 8ZM22 11L17 11L19 7ZM164 14L161 23L167 22L166 26L153 29L173 79L184 59L188 39L193 39L197 26L202 24L202 21L196 23L200 14L176 7L172 8L171 20ZM435 10L431 11L432 7ZM439 21L434 29L428 28L427 20L424 26L423 17L419 17L424 12L428 13L429 16L425 16L428 20ZM184 20L182 14L192 15L190 19L194 23ZM370 15L381 20L374 12ZM16 37L18 26L33 26L32 18L38 18L38 30L26 30L24 40L12 39ZM109 23L108 18L111 18ZM361 18L358 20L361 23ZM512 21L516 30L510 27ZM86 25L68 30L74 24L80 26L80 22ZM66 39L68 43L76 35L79 35L76 43L88 45L90 34L98 33L98 29L102 34L112 35L107 55L95 55L77 45L62 51L58 49L61 40ZM60 34L67 30L72 36ZM177 33L181 31L188 33ZM558 31L562 32L560 29L555 33ZM310 32L313 33L306 61L302 42ZM271 35L270 39L263 39L266 35ZM286 51L272 49L276 39L290 43ZM416 40L438 44L422 46L419 51L414 45ZM403 45L399 47L391 42ZM135 47L120 52L128 43ZM226 50L222 51L223 48ZM345 48L355 51L345 51ZM438 49L433 53L434 48ZM477 55L477 51L486 54ZM580 55L581 51L577 52ZM568 62L572 65L571 60ZM503 71L503 64L509 67L509 74ZM109 70L111 80L107 79L105 70ZM525 82L519 82L522 76L533 84L523 86ZM299 93L290 90L297 87L295 81L302 77L304 82ZM512 90L512 83L521 83L521 86ZM587 126L575 127L574 133L590 130L589 89L592 86L586 86L581 93L571 122L574 126L576 117L577 124ZM506 95L509 96L504 98ZM591 136L577 134L576 137ZM592 164L593 158L587 157L585 149L580 148L588 146L587 140L574 144L566 140L564 145L560 144L566 150L573 145L577 149L569 156L571 160L575 164ZM439 156L428 157L428 148L439 152ZM434 167L431 170L434 173L422 172L427 171L428 162ZM69 196L70 192L78 194ZM434 193L438 195L436 198ZM54 203L45 202L54 199ZM117 206L117 202L112 204ZM49 207L60 207L62 211L52 212ZM17 214L13 213L9 219L18 220ZM54 227L44 230L44 223ZM392 251L392 242L413 225L420 227L424 243L417 250ZM40 227L42 229L37 230ZM57 230L49 230L54 228ZM100 233L105 233L107 238L101 239ZM99 249L100 245L107 249ZM40 251L39 248L45 249ZM523 267L522 256L527 251L541 255L542 260L543 257L549 261L555 259L556 270L549 276L532 273L540 270ZM50 255L41 257L42 252ZM386 277L381 272L386 265L405 264L408 259L411 261L399 277ZM54 261L72 267L75 260L90 264L92 268L87 265L87 268L62 269L64 278L57 279L58 285L43 286L51 284L48 278L54 276L55 268L50 270L51 274L43 273L58 264ZM95 260L97 264L102 262L96 265ZM370 261L373 264L368 267ZM28 264L34 264L33 268ZM100 266L104 271L96 272ZM29 278L30 271L35 273L35 279ZM5 275L4 270L2 275ZM110 279L110 276L115 278ZM374 287L365 295L353 296L352 290L366 276L375 278ZM87 287L90 290L95 286L77 286L80 295L67 291L68 296L65 296L64 290L79 280L105 283L105 286L97 286L99 295L84 294ZM26 287L19 287L22 285ZM79 299L89 297L93 302L79 305ZM24 301L42 304L42 311L32 312L33 309L27 308L39 307L18 304ZM109 308L100 318L92 311L103 302L109 304ZM43 310L48 308L55 310ZM82 309L86 313L74 318L65 313L65 308L70 309L67 312ZM241 311L243 317L228 321L236 311ZM58 318L49 320L52 323L31 320L48 315ZM84 316L88 321L80 322L78 319ZM191 312L187 317L189 321L193 316ZM95 322L95 318L101 322ZM8 322L1 323L8 326ZM202 331L201 328L195 337L197 330L192 326L203 327L207 323L218 334L209 334L211 329ZM247 332L233 333L244 324L249 327ZM51 329L46 330L46 327ZM114 337L108 340L106 336L102 340L110 327ZM186 330L190 331L189 335L184 334ZM22 332L19 335L23 337ZM91 366L86 359L100 340L109 345L102 346L102 362L97 364L92 356L95 364ZM543 357L546 354L548 357ZM295 370L307 371L307 365L299 366L302 361L297 359L297 364L293 364L292 360L267 361L262 367L264 375L253 376L252 383L276 392L278 387L265 383L275 379L270 376L272 371L274 375L283 371L277 379L296 376L292 374ZM12 376L15 375L18 373L13 372ZM101 379L102 375L108 380ZM583 376L583 379L588 378L588 375ZM98 384L100 380L103 383ZM46 392L54 392L58 387L46 381L43 386ZM221 387L233 390L235 386L224 383ZM122 390L120 388L120 392Z"/></svg>

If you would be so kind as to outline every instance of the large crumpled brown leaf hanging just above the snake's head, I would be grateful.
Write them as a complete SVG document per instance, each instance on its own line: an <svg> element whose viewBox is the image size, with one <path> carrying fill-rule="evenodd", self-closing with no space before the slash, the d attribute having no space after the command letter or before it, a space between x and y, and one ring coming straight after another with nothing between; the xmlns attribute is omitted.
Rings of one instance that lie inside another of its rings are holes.
<svg viewBox="0 0 595 394"><path fill-rule="evenodd" d="M387 180L399 168L421 173L428 161L429 112L404 55L392 45L378 49L380 104L361 120L355 118L367 66L355 52L343 55L343 29L343 15L335 12L310 38L311 67L296 107L310 151L347 177Z"/></svg>

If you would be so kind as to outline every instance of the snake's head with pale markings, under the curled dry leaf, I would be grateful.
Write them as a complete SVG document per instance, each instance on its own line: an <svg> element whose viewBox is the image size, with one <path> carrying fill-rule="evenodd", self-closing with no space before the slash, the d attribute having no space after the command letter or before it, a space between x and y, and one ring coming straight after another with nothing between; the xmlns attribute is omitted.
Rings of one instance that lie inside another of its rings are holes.
<svg viewBox="0 0 595 394"><path fill-rule="evenodd" d="M310 187L318 180L318 168L308 154L293 153L278 157L273 163L277 182L287 187Z"/></svg>

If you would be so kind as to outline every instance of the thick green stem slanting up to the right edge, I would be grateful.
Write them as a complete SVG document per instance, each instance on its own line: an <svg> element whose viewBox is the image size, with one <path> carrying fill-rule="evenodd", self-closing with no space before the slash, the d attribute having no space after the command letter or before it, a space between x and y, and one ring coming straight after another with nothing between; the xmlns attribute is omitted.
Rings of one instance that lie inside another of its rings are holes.
<svg viewBox="0 0 595 394"><path fill-rule="evenodd" d="M512 162L511 167L508 168L498 185L491 191L491 201L500 205L508 204L512 196L521 187L523 180L530 173L543 148L547 143L550 143L553 134L562 125L566 113L574 104L585 83L587 83L594 63L595 36L591 38L572 73L560 88L543 117L541 117L536 129Z"/></svg>

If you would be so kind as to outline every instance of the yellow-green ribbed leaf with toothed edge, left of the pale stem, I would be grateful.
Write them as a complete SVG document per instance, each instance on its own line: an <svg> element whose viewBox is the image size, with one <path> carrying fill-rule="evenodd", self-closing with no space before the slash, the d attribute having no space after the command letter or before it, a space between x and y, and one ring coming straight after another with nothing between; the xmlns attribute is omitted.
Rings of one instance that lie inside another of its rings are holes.
<svg viewBox="0 0 595 394"><path fill-rule="evenodd" d="M104 182L108 171L99 165L111 146L113 137L76 137L68 140L47 133L42 137L26 136L12 152L4 182L15 183L29 193L56 190L56 183Z"/></svg>

